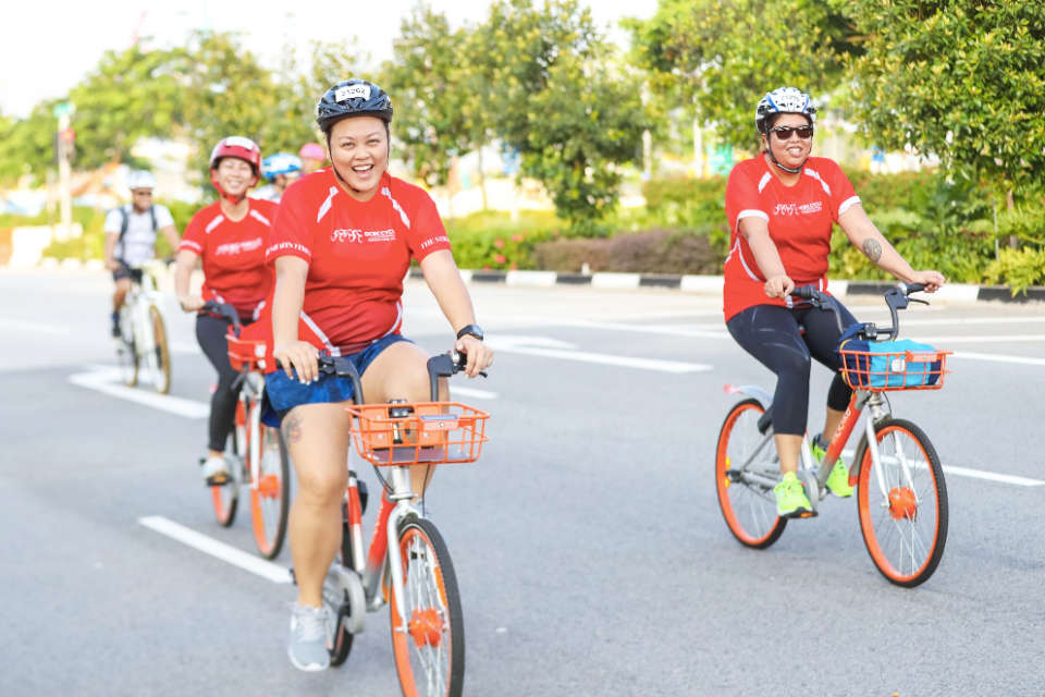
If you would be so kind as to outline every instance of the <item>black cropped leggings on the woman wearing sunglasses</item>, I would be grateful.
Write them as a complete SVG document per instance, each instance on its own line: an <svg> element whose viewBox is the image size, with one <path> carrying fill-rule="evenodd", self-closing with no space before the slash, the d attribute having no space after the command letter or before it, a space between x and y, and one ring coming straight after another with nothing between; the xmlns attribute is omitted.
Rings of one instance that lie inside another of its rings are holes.
<svg viewBox="0 0 1045 697"><path fill-rule="evenodd" d="M835 301L841 313L843 328L857 320L846 307ZM806 327L806 333L799 331ZM849 406L852 390L838 375L840 362L838 323L831 310L804 307L755 305L735 315L726 328L745 351L776 374L773 395L773 430L777 433L801 436L809 416L810 356L835 372L827 391L827 406L844 412Z"/></svg>

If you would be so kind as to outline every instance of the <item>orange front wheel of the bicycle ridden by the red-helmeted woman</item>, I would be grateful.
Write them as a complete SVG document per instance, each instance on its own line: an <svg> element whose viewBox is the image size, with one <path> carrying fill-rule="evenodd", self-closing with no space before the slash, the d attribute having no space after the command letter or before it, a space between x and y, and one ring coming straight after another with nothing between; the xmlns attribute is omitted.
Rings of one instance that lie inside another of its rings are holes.
<svg viewBox="0 0 1045 697"><path fill-rule="evenodd" d="M259 408L260 404L251 405L251 409ZM250 423L254 423L253 418ZM259 426L260 480L251 482L250 486L250 519L258 551L266 559L275 559L286 537L286 516L291 503L291 458L282 431L260 421ZM247 452L249 453L249 448ZM250 463L247 464L247 472L254 472Z"/></svg>

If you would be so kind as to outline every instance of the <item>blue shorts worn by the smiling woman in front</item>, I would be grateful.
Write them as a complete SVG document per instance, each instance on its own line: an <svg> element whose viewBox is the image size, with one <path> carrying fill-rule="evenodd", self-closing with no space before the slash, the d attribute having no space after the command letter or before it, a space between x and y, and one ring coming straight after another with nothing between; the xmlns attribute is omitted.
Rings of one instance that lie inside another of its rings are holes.
<svg viewBox="0 0 1045 697"><path fill-rule="evenodd" d="M409 341L403 334L389 334L371 342L358 353L346 356L356 366L360 376L373 363L378 355L394 343ZM349 402L355 394L352 378L335 375L320 375L319 380L302 384L297 379L286 377L283 370L265 376L265 405L261 421L266 426L279 427L287 412L299 404L323 404Z"/></svg>

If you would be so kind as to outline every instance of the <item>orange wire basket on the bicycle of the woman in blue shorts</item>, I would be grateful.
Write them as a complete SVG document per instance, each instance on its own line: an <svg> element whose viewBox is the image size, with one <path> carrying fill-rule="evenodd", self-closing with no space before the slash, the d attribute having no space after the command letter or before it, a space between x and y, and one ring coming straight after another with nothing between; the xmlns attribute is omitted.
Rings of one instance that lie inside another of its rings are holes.
<svg viewBox="0 0 1045 697"><path fill-rule="evenodd" d="M458 402L357 404L348 413L356 451L378 466L475 462L489 440L490 415Z"/></svg>

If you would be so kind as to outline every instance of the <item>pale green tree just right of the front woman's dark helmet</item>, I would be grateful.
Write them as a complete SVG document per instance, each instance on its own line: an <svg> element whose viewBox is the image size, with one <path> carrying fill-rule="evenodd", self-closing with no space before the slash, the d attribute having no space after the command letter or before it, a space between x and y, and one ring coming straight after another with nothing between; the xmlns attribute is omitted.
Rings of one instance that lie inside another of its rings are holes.
<svg viewBox="0 0 1045 697"><path fill-rule="evenodd" d="M446 15L418 5L403 21L394 57L382 71L393 97L396 140L414 174L430 186L446 184L454 158L488 140L487 90L469 60L474 47L471 32L453 30Z"/></svg>

